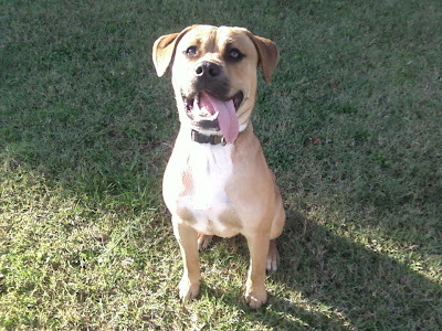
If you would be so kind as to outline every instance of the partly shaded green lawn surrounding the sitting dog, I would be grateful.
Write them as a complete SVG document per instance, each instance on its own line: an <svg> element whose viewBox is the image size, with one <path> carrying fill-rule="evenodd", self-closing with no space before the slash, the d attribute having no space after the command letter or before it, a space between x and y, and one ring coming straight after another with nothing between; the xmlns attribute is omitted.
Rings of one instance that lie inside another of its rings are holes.
<svg viewBox="0 0 442 331"><path fill-rule="evenodd" d="M440 1L2 1L0 329L442 328ZM269 305L248 249L201 254L182 305L161 175L178 120L156 38L276 42L254 127L287 225Z"/></svg>

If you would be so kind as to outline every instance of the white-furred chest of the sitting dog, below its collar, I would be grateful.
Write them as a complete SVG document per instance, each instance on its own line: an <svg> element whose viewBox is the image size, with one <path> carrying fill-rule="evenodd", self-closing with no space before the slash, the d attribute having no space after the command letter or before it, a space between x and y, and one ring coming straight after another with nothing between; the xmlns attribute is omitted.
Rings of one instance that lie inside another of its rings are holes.
<svg viewBox="0 0 442 331"><path fill-rule="evenodd" d="M199 233L233 236L239 226L225 191L233 170L232 146L192 145L187 164L191 188L179 197L180 216Z"/></svg>

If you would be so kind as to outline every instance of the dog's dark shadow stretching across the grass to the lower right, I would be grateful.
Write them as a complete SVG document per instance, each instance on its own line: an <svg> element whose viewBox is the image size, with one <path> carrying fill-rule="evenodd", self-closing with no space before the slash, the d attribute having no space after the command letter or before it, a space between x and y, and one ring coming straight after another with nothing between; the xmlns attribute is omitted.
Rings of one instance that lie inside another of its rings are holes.
<svg viewBox="0 0 442 331"><path fill-rule="evenodd" d="M280 247L281 273L271 278L301 291L316 310L326 311L306 318L301 314L311 327L324 327L324 322L333 327L333 316L365 330L442 325L442 287L387 255L337 236L299 214L288 220ZM273 300L275 313L287 309L286 300ZM288 305L295 314L297 309Z"/></svg>

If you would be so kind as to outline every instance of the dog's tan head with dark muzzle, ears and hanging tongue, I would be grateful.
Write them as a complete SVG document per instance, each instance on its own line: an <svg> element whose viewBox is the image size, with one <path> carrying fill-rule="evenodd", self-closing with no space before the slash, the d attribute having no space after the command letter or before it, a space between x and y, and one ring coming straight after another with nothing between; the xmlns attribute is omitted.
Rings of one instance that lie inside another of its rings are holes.
<svg viewBox="0 0 442 331"><path fill-rule="evenodd" d="M233 142L255 103L256 67L271 82L275 44L246 29L192 25L160 36L152 57L158 76L172 63L172 85L181 124L221 131Z"/></svg>

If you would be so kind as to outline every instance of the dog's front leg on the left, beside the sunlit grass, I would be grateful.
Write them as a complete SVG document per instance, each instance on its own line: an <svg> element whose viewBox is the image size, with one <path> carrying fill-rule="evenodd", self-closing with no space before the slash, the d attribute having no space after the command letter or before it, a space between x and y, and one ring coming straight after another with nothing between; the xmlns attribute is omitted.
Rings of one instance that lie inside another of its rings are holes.
<svg viewBox="0 0 442 331"><path fill-rule="evenodd" d="M200 292L201 271L198 260L198 234L178 217L173 218L172 223L173 234L180 245L183 265L179 296L182 300L190 300Z"/></svg>

